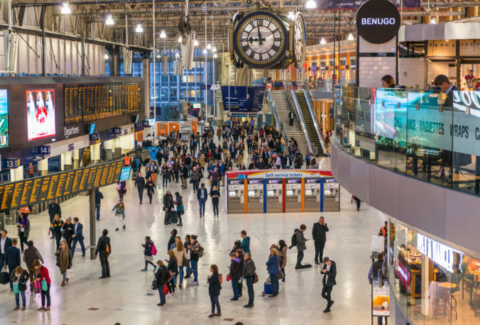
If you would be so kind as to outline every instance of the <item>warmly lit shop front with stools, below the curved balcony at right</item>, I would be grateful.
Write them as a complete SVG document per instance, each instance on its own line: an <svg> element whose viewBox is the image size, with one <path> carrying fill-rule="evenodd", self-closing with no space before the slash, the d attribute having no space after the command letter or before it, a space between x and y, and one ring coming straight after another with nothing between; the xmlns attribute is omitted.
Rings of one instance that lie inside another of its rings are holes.
<svg viewBox="0 0 480 325"><path fill-rule="evenodd" d="M395 219L389 229L394 324L480 324L479 260Z"/></svg>

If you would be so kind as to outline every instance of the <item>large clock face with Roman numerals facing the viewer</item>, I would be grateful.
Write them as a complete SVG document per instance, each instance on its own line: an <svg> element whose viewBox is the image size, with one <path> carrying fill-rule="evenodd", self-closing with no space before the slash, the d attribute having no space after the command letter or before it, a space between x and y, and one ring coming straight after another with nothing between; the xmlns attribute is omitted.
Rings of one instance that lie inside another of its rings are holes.
<svg viewBox="0 0 480 325"><path fill-rule="evenodd" d="M246 65L265 69L285 55L287 33L283 21L273 13L256 11L237 23L234 48Z"/></svg>

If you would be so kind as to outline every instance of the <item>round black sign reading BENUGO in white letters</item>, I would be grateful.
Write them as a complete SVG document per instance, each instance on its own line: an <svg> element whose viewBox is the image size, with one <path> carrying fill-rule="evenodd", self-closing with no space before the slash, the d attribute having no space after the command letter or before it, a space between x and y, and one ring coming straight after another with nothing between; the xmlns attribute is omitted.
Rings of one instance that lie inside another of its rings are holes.
<svg viewBox="0 0 480 325"><path fill-rule="evenodd" d="M400 28L400 13L388 0L370 0L356 12L356 29L364 40L381 44L394 38Z"/></svg>

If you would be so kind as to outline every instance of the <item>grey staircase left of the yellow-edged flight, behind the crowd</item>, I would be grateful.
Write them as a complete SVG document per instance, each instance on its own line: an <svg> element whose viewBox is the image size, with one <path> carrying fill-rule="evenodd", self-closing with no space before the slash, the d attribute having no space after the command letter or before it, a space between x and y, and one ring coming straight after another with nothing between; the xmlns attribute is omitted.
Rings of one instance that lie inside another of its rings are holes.
<svg viewBox="0 0 480 325"><path fill-rule="evenodd" d="M300 149L302 155L308 153L308 145L307 141L305 140L305 135L300 128L298 127L297 119L293 120L293 126L290 126L290 121L288 119L288 114L290 113L290 106L288 104L287 94L285 94L285 90L272 90L270 92L273 102L275 103L278 117L280 121L283 122L283 126L285 127L285 133L287 133L288 141L285 139L285 144L288 145L290 143L290 138L295 138L297 141L298 148Z"/></svg>

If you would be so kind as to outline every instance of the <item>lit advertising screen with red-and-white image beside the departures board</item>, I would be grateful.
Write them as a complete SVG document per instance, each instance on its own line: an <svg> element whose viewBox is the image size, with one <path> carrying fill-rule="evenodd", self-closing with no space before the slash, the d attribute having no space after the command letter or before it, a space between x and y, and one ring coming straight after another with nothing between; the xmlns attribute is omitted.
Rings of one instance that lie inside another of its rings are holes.
<svg viewBox="0 0 480 325"><path fill-rule="evenodd" d="M28 141L55 136L55 90L28 90Z"/></svg>

